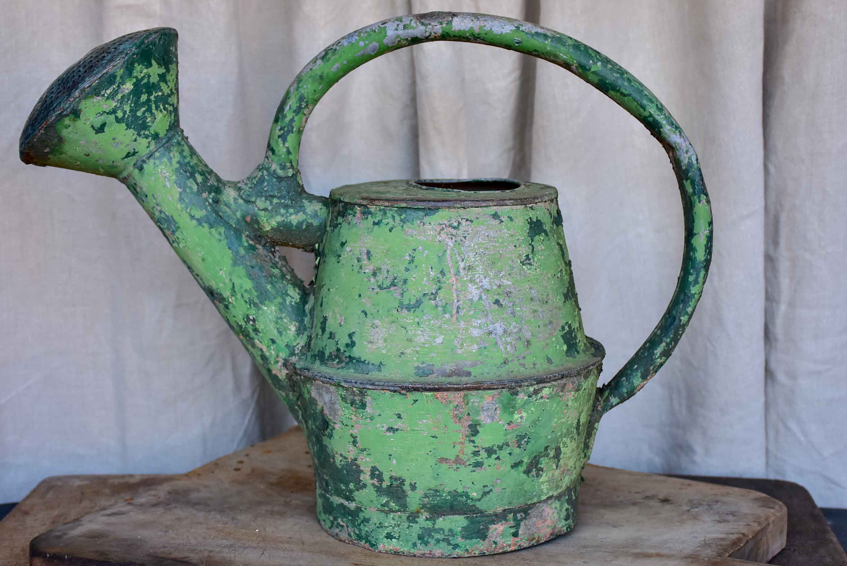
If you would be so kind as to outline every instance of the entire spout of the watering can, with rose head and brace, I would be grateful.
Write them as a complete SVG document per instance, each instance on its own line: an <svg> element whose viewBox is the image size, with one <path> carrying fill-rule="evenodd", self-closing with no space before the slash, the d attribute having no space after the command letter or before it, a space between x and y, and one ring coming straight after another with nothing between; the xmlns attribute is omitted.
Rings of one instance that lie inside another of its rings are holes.
<svg viewBox="0 0 847 566"><path fill-rule="evenodd" d="M86 54L36 103L20 158L124 183L285 396L312 294L276 246L313 249L325 199L302 199L302 185L261 165L241 182L208 167L180 129L176 41L155 28Z"/></svg>

